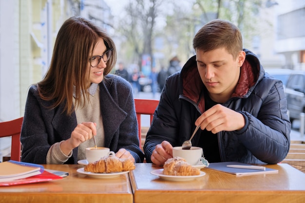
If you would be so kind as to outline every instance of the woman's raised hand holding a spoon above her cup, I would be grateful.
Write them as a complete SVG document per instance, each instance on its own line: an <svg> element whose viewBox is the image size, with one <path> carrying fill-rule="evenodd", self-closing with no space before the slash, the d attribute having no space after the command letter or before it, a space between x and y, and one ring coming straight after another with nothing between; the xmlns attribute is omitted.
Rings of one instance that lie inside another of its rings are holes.
<svg viewBox="0 0 305 203"><path fill-rule="evenodd" d="M71 137L60 144L62 152L66 155L78 147L81 143L91 139L96 135L96 123L83 122L77 124L76 128L72 131Z"/></svg>

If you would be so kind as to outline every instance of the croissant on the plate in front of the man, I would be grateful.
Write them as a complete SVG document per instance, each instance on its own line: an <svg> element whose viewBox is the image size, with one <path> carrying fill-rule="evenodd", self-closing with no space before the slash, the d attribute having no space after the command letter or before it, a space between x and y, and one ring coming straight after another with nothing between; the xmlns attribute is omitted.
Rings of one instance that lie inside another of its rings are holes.
<svg viewBox="0 0 305 203"><path fill-rule="evenodd" d="M181 157L168 159L164 164L163 174L172 176L194 176L199 175L200 170L194 168Z"/></svg>

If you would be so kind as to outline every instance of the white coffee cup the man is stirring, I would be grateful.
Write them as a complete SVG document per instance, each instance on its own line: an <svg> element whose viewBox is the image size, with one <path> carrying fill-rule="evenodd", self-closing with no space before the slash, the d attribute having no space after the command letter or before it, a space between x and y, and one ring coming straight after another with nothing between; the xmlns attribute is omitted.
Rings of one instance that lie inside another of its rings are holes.
<svg viewBox="0 0 305 203"><path fill-rule="evenodd" d="M190 149L182 149L182 147L172 148L172 157L181 157L190 165L197 165L203 154L202 148L191 147Z"/></svg>

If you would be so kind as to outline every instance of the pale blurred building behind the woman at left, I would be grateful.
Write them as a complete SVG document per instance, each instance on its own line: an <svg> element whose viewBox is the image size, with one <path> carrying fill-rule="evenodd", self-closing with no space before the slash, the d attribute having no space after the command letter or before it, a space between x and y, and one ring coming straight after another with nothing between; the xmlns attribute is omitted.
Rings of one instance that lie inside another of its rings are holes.
<svg viewBox="0 0 305 203"><path fill-rule="evenodd" d="M0 122L23 116L28 88L46 73L57 32L71 16L110 27L104 0L0 0ZM10 139L1 138L0 161L7 147Z"/></svg>

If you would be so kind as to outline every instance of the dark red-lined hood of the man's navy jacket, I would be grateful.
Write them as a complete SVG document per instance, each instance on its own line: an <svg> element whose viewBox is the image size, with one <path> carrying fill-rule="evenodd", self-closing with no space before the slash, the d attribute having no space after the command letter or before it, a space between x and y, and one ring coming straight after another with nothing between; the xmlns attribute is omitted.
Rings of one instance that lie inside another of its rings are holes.
<svg viewBox="0 0 305 203"><path fill-rule="evenodd" d="M246 98L255 85L265 74L258 57L251 51L244 49L246 59L241 66L239 81L231 97ZM204 109L204 99L201 99L202 90L206 89L198 72L196 55L192 56L183 66L180 74L180 95L183 95L198 104L199 109ZM203 111L202 111L203 112Z"/></svg>

